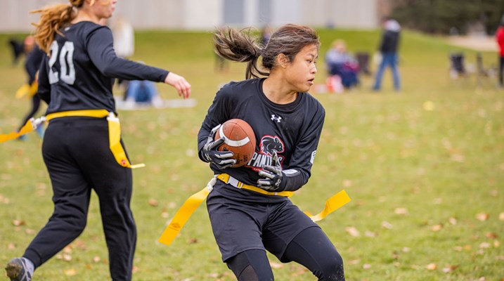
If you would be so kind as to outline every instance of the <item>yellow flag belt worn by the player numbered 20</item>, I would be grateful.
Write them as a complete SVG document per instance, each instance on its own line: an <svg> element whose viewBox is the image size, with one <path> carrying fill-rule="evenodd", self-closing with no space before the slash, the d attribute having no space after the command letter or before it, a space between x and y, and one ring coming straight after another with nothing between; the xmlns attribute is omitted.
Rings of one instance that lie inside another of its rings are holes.
<svg viewBox="0 0 504 281"><path fill-rule="evenodd" d="M119 123L119 118L115 117L114 112L108 112L108 110L71 110L50 113L49 115L46 115L46 117L40 117L37 119L32 118L28 120L28 122L26 122L24 126L22 126L20 131L16 133L8 133L6 135L0 135L0 143L18 138L25 133L29 133L30 131L37 129L37 126L39 126L39 124L41 124L42 122L50 122L52 119L61 117L107 117L109 147L110 151L114 155L117 164L131 169L146 166L145 164L132 165L129 163L129 160L126 157L126 152L124 152L124 148L122 148L121 145L121 124Z"/></svg>

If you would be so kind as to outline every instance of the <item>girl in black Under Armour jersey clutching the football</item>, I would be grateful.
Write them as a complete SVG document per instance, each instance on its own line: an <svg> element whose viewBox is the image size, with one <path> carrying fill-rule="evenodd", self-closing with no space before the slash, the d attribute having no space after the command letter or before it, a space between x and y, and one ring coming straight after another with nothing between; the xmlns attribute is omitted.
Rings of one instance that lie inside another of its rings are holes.
<svg viewBox="0 0 504 281"><path fill-rule="evenodd" d="M324 108L308 93L319 45L316 32L300 25L280 27L266 46L246 30L221 28L214 35L218 55L247 62L246 79L217 92L198 133L200 159L217 176L207 197L212 231L238 280L273 280L266 250L302 264L318 280L344 280L332 242L288 199L311 176L324 122ZM231 167L232 152L217 151L224 139L214 141L219 124L234 118L252 126L257 142L252 159L238 168Z"/></svg>

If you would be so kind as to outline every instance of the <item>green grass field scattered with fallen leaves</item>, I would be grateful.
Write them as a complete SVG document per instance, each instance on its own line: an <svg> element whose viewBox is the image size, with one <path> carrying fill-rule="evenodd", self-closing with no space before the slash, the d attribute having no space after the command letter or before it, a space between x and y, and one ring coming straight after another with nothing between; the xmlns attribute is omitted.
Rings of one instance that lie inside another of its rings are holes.
<svg viewBox="0 0 504 281"><path fill-rule="evenodd" d="M323 54L347 40L349 51L373 53L380 33L320 30L316 82L323 84ZM16 100L25 81L11 65L0 35L0 132L13 131L29 109ZM21 34L18 35L22 37ZM187 197L212 176L200 162L196 138L219 85L244 77L243 65L214 71L212 35L205 32L137 32L134 59L174 70L193 85L192 108L119 111L134 170L132 209L138 227L134 280L234 280L221 263L205 206L171 246L157 242ZM327 112L309 183L292 197L312 213L347 190L352 201L320 222L342 254L347 280L504 279L504 91L495 78L448 75L448 53L474 51L440 37L404 32L403 91L373 93L372 77L343 94L314 93ZM486 66L496 53L484 53ZM372 65L372 70L375 70ZM163 98L177 98L159 85ZM44 107L45 109L45 107ZM0 144L0 264L20 256L53 210L41 139ZM57 239L57 237L55 237ZM276 280L314 280L295 263L271 256ZM39 268L34 280L109 280L98 200L91 200L84 233Z"/></svg>

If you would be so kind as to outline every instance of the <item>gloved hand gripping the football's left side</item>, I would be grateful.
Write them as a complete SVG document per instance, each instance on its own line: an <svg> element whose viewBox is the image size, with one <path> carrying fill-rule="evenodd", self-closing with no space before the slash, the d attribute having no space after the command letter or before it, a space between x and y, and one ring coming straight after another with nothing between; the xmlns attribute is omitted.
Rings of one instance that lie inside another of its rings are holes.
<svg viewBox="0 0 504 281"><path fill-rule="evenodd" d="M224 143L224 136L214 141L214 136L217 130L221 125L215 126L214 129L210 132L210 135L207 138L207 143L201 149L202 158L205 159L206 162L213 163L219 167L219 169L225 169L233 164L236 164L236 159L231 159L234 156L234 153L231 151L219 151L219 145Z"/></svg>

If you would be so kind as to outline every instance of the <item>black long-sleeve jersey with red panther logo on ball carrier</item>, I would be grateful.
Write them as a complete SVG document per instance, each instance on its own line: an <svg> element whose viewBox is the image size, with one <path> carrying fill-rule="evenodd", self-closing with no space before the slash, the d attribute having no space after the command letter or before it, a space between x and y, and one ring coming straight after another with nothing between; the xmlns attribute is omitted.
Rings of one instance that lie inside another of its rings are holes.
<svg viewBox="0 0 504 281"><path fill-rule="evenodd" d="M223 170L210 164L214 174L226 173L243 183L257 185L262 178L258 171L271 165L271 155L276 150L284 173L295 175L287 190L297 190L311 175L325 110L309 93L299 93L294 102L286 105L273 103L262 91L263 82L264 79L231 82L217 92L198 133L198 151L214 126L233 118L243 119L256 137L252 159L245 166Z"/></svg>

